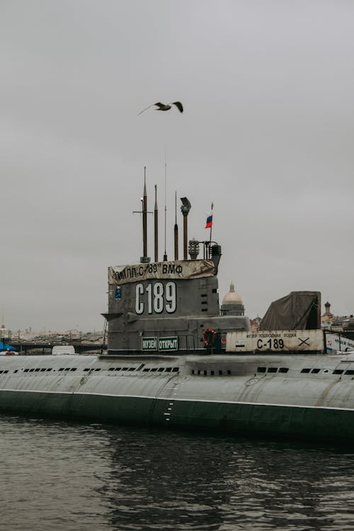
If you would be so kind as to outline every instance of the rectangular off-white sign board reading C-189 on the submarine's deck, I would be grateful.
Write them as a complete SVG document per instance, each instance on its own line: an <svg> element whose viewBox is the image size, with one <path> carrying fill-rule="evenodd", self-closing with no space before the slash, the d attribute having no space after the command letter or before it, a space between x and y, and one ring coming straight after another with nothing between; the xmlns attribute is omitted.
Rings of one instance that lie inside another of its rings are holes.
<svg viewBox="0 0 354 531"><path fill-rule="evenodd" d="M321 330L263 330L227 332L227 352L286 352L324 350Z"/></svg>

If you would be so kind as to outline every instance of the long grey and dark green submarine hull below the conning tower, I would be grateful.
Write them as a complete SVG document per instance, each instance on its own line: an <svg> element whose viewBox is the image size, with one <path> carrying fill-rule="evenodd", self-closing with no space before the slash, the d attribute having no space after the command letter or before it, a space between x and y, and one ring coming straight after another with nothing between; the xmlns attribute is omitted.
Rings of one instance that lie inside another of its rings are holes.
<svg viewBox="0 0 354 531"><path fill-rule="evenodd" d="M353 362L350 355L13 356L0 362L0 410L350 441Z"/></svg>

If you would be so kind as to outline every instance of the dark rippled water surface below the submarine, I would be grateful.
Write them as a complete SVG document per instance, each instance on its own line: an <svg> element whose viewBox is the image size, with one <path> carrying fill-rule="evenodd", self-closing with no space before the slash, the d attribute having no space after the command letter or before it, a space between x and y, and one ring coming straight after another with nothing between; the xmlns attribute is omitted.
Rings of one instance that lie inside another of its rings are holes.
<svg viewBox="0 0 354 531"><path fill-rule="evenodd" d="M1 530L354 530L348 448L0 416Z"/></svg>

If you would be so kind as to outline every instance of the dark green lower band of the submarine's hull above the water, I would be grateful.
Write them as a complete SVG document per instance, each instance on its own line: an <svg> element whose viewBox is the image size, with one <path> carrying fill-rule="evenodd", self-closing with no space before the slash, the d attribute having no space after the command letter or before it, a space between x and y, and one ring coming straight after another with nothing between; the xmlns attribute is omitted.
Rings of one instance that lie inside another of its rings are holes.
<svg viewBox="0 0 354 531"><path fill-rule="evenodd" d="M233 435L354 439L353 411L137 396L0 392L1 411Z"/></svg>

